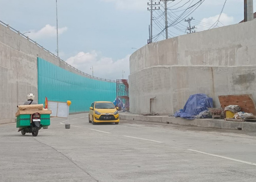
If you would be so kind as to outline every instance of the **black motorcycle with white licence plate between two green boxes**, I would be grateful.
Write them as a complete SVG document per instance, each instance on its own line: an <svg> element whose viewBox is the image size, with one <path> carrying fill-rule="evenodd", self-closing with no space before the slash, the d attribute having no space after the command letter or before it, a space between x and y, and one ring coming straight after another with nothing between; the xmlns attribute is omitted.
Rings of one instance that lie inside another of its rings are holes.
<svg viewBox="0 0 256 182"><path fill-rule="evenodd" d="M18 131L21 131L22 135L25 135L26 133L32 133L33 137L36 137L38 135L38 131L42 127L40 116L41 115L38 112L31 114L30 126L20 128Z"/></svg>

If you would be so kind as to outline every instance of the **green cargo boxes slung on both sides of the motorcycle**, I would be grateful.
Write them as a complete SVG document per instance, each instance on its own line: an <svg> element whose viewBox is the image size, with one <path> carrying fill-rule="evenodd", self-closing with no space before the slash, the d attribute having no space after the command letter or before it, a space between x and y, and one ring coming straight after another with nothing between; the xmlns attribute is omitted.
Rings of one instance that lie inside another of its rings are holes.
<svg viewBox="0 0 256 182"><path fill-rule="evenodd" d="M41 114L41 124L42 127L46 127L50 125L50 114ZM17 128L24 128L30 126L30 114L20 114L17 116Z"/></svg>

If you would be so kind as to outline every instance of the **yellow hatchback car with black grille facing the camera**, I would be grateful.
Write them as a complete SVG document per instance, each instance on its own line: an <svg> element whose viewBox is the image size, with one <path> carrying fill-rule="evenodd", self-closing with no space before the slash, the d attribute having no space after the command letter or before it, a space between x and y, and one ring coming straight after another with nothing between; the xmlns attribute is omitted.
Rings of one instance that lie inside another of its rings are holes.
<svg viewBox="0 0 256 182"><path fill-rule="evenodd" d="M97 101L93 102L89 111L89 123L119 123L118 107L115 107L112 102Z"/></svg>

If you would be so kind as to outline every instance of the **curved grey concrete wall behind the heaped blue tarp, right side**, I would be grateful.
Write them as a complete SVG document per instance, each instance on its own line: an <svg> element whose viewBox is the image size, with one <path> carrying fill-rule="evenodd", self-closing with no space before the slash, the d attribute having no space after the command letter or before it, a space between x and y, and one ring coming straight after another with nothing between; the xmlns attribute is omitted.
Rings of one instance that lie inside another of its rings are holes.
<svg viewBox="0 0 256 182"><path fill-rule="evenodd" d="M256 21L148 44L130 57L130 111L173 114L189 95L252 94L256 100Z"/></svg>

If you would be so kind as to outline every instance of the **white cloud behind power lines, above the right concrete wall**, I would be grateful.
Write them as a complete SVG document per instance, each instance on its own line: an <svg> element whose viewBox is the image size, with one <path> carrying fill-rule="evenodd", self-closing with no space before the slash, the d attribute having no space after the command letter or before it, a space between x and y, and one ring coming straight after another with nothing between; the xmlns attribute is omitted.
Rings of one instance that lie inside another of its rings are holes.
<svg viewBox="0 0 256 182"><path fill-rule="evenodd" d="M203 18L202 21L197 25L197 28L202 29L202 30L207 30L210 27L213 28L217 24L216 21L218 20L218 17L219 17L219 15L211 16L208 18ZM216 27L223 27L226 25L234 24L234 23L236 23L234 21L234 17L228 16L227 14L222 13L221 17L219 19L218 25Z"/></svg>

